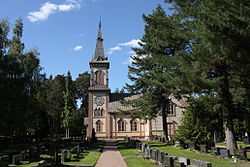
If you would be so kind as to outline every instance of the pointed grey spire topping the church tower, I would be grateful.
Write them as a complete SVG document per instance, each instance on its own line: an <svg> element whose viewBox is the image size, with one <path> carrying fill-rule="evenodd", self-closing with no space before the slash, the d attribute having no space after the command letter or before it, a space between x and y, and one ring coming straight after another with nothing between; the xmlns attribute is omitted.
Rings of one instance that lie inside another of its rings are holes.
<svg viewBox="0 0 250 167"><path fill-rule="evenodd" d="M99 29L98 29L98 35L97 35L97 40L96 40L96 48L95 48L94 59L97 60L97 61L106 60L106 58L104 56L104 49L103 49L101 19L100 19L100 22L99 22Z"/></svg>

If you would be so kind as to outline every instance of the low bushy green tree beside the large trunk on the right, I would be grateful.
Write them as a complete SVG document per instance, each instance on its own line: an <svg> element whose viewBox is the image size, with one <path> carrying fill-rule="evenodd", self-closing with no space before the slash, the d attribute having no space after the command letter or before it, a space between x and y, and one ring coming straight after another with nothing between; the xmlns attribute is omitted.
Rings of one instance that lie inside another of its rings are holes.
<svg viewBox="0 0 250 167"><path fill-rule="evenodd" d="M185 111L175 139L184 145L191 141L212 145L214 131L222 131L222 117L214 107L216 103L217 99L213 96L193 99Z"/></svg>

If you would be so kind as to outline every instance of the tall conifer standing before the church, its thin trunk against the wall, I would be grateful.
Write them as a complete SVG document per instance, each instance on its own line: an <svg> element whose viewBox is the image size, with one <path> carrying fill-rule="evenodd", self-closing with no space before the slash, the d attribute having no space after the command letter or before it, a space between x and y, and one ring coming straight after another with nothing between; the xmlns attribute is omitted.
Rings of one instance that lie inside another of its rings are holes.
<svg viewBox="0 0 250 167"><path fill-rule="evenodd" d="M164 136L168 140L167 108L169 96L177 89L174 74L177 72L175 53L183 50L187 42L182 36L182 27L178 17L166 15L158 5L149 16L143 15L146 23L145 32L141 39L141 48L134 48L136 56L132 57L129 66L129 78L134 83L127 85L131 92L140 92L145 96L150 110L148 117L162 115ZM136 102L138 104L138 101ZM151 104L150 104L151 103ZM142 106L142 105L138 105Z"/></svg>

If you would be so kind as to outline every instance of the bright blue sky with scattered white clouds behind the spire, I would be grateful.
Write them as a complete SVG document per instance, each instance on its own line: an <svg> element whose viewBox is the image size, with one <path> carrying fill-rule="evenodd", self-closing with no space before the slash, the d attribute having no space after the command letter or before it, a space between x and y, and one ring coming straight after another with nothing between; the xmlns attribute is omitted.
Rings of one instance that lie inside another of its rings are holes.
<svg viewBox="0 0 250 167"><path fill-rule="evenodd" d="M1 0L0 19L11 28L18 18L24 23L25 49L40 53L47 77L70 71L72 78L89 71L101 18L105 56L109 58L112 91L130 83L128 65L144 33L142 14L151 14L164 0Z"/></svg>

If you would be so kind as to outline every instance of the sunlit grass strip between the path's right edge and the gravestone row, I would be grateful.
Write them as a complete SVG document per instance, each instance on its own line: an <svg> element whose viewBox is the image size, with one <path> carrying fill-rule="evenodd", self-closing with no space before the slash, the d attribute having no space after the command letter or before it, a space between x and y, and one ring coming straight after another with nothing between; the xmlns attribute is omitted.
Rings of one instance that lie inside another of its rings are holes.
<svg viewBox="0 0 250 167"><path fill-rule="evenodd" d="M131 148L131 146L126 141L118 141L118 148L124 157L124 161L126 162L128 167L157 167L157 165L142 157L136 156L143 156L140 150Z"/></svg>

